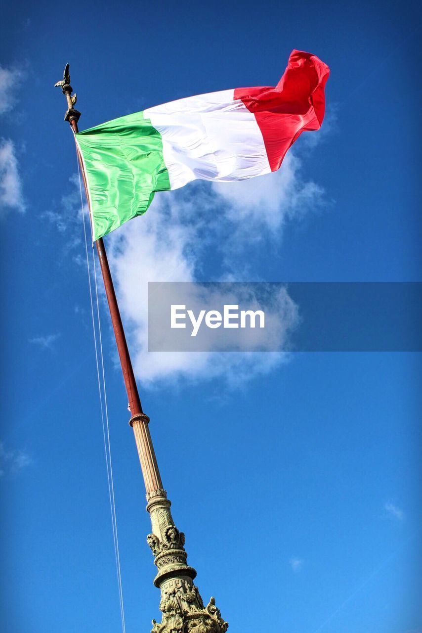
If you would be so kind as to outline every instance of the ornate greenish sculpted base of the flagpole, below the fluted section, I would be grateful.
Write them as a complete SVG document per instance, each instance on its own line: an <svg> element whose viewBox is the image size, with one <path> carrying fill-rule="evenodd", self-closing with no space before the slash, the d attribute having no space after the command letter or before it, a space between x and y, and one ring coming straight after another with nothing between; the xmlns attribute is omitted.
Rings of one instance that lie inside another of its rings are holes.
<svg viewBox="0 0 422 633"><path fill-rule="evenodd" d="M154 585L161 590L161 623L152 620L151 633L225 633L228 624L211 598L204 606L194 585L196 572L187 565L185 535L179 532L170 512L166 491L147 494L152 534L147 536L158 573Z"/></svg>

